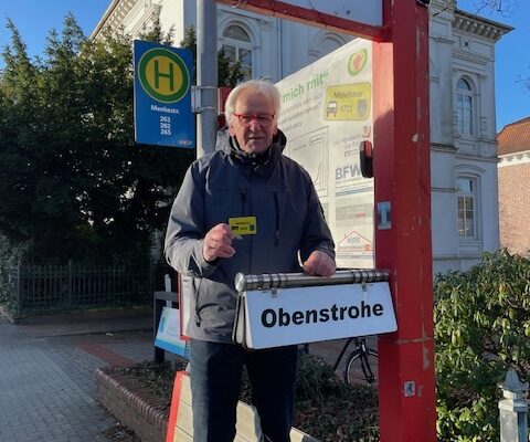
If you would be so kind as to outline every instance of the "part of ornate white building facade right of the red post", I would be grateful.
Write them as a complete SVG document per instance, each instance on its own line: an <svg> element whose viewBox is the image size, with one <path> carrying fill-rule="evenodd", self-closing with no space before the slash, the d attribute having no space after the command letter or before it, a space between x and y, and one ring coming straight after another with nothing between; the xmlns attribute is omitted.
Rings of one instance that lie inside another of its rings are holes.
<svg viewBox="0 0 530 442"><path fill-rule="evenodd" d="M499 246L495 43L511 28L432 3L433 257L444 271Z"/></svg>

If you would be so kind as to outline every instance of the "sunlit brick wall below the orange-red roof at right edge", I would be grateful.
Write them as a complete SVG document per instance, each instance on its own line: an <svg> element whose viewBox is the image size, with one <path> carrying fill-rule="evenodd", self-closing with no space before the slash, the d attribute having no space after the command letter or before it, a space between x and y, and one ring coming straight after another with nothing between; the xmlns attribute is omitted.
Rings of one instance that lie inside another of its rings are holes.
<svg viewBox="0 0 530 442"><path fill-rule="evenodd" d="M500 246L530 255L530 162L499 167Z"/></svg>

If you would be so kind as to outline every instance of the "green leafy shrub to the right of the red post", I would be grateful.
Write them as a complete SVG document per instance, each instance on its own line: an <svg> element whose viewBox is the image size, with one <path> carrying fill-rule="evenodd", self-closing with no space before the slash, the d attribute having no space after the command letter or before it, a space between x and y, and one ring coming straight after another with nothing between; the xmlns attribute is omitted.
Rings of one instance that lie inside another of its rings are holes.
<svg viewBox="0 0 530 442"><path fill-rule="evenodd" d="M486 253L435 281L437 431L442 441L498 441L498 383L528 381L530 261Z"/></svg>

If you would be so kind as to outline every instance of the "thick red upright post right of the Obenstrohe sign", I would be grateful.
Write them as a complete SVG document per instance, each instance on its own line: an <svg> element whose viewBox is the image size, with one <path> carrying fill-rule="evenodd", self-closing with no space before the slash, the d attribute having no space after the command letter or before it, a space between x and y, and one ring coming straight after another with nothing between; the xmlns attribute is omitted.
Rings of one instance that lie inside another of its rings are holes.
<svg viewBox="0 0 530 442"><path fill-rule="evenodd" d="M380 335L382 442L435 442L427 1L384 0L373 43L375 266L398 332Z"/></svg>

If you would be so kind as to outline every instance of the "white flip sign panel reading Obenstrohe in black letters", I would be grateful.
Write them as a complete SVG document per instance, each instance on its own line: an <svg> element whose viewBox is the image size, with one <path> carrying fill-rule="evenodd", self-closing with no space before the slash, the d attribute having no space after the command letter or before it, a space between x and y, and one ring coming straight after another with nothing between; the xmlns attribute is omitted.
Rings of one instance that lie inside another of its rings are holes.
<svg viewBox="0 0 530 442"><path fill-rule="evenodd" d="M241 294L234 339L269 348L395 332L388 283L252 291Z"/></svg>

